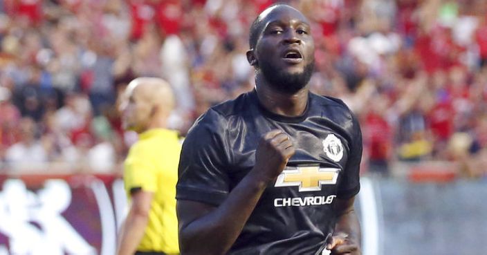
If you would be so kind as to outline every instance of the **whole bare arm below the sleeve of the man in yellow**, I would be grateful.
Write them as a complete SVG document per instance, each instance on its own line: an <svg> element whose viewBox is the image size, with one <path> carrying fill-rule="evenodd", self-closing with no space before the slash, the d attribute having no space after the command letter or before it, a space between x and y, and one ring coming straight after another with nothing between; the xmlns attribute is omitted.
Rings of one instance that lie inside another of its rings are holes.
<svg viewBox="0 0 487 255"><path fill-rule="evenodd" d="M140 244L149 221L153 192L133 189L131 191L132 204L125 223L120 228L120 239L117 245L117 255L133 255Z"/></svg>

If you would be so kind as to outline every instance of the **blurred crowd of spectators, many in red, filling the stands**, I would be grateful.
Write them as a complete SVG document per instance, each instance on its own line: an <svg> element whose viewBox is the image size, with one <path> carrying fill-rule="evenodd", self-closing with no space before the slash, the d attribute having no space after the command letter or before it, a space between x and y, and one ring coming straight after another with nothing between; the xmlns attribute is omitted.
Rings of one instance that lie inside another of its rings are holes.
<svg viewBox="0 0 487 255"><path fill-rule="evenodd" d="M361 122L365 171L438 160L487 176L484 0L287 2L311 19L312 90ZM208 107L254 86L248 28L272 3L0 1L0 172L118 171L136 140L118 97L138 76L172 84L170 122L184 135Z"/></svg>

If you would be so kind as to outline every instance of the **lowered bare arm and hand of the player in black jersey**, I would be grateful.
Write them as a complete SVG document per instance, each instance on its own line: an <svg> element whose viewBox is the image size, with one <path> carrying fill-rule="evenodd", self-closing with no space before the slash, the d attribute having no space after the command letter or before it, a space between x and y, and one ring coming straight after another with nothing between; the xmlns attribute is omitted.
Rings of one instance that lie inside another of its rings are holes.
<svg viewBox="0 0 487 255"><path fill-rule="evenodd" d="M360 223L353 207L355 196L336 199L337 221L333 235L327 240L331 254L360 255Z"/></svg>

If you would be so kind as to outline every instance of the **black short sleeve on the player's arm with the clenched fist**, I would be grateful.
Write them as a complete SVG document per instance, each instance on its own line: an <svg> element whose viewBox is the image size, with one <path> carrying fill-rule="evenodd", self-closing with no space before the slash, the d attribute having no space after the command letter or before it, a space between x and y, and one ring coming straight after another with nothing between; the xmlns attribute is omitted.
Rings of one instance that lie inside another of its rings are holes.
<svg viewBox="0 0 487 255"><path fill-rule="evenodd" d="M226 120L210 109L196 120L183 142L176 199L220 205L230 189Z"/></svg>

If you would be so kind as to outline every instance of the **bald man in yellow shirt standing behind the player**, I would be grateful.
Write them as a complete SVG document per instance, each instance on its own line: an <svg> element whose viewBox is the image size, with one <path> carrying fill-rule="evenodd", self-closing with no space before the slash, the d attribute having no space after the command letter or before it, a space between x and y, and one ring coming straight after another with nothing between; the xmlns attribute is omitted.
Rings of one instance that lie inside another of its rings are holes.
<svg viewBox="0 0 487 255"><path fill-rule="evenodd" d="M181 143L176 131L166 129L173 107L172 90L163 79L140 77L125 90L123 125L139 140L125 160L131 205L120 229L118 255L179 253L175 196Z"/></svg>

